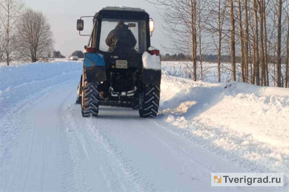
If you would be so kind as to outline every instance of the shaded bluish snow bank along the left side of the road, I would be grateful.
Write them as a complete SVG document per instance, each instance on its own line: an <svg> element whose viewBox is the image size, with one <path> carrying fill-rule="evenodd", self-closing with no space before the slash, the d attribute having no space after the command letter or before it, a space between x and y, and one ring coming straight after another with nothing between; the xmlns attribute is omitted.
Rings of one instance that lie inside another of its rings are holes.
<svg viewBox="0 0 289 192"><path fill-rule="evenodd" d="M72 61L0 66L0 117L18 100L47 86L80 77L81 69L82 62Z"/></svg>

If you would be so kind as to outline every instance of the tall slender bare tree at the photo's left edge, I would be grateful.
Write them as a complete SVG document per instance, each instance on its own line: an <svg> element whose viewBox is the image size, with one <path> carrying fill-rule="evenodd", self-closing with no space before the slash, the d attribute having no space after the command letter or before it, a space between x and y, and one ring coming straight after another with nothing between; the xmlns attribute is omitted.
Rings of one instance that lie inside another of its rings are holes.
<svg viewBox="0 0 289 192"><path fill-rule="evenodd" d="M19 0L0 1L0 22L3 27L3 34L1 34L1 52L5 54L7 65L9 65L9 62L13 59L13 54L16 50L15 27L22 9L23 3Z"/></svg>

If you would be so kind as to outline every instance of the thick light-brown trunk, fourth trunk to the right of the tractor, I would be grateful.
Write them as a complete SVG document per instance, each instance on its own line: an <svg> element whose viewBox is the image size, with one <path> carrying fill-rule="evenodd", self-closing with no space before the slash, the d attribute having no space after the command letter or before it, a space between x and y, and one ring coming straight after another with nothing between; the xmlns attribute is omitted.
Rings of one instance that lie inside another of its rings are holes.
<svg viewBox="0 0 289 192"><path fill-rule="evenodd" d="M231 64L232 64L232 81L236 81L236 49L235 49L235 18L234 18L234 3L230 3L230 20L231 20Z"/></svg>

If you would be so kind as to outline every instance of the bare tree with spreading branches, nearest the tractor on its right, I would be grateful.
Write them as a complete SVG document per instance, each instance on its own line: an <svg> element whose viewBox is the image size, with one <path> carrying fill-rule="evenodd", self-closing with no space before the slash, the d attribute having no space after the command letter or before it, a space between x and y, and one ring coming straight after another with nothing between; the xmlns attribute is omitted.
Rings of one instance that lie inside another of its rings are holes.
<svg viewBox="0 0 289 192"><path fill-rule="evenodd" d="M162 11L165 36L171 51L190 56L193 80L197 80L197 0L151 0Z"/></svg>

